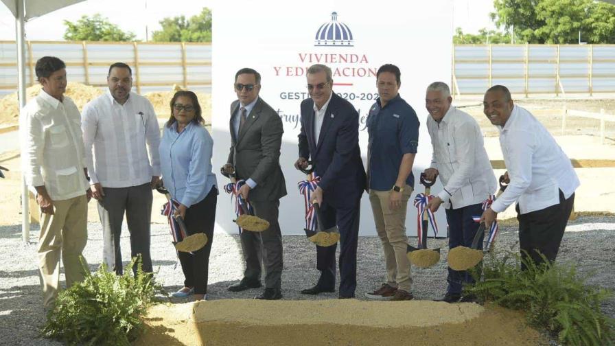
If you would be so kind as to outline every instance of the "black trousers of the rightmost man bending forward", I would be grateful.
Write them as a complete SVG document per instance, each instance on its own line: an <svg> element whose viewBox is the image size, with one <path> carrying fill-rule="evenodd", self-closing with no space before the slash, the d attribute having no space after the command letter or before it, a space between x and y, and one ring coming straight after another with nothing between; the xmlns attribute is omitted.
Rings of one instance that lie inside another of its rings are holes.
<svg viewBox="0 0 615 346"><path fill-rule="evenodd" d="M535 264L544 262L539 255L542 253L548 262L555 262L561 238L568 224L568 218L575 204L575 194L568 199L559 190L559 203L544 209L531 211L527 214L518 214L519 220L519 247L521 257L531 259ZM519 207L517 206L519 213ZM522 264L522 269L526 269Z"/></svg>

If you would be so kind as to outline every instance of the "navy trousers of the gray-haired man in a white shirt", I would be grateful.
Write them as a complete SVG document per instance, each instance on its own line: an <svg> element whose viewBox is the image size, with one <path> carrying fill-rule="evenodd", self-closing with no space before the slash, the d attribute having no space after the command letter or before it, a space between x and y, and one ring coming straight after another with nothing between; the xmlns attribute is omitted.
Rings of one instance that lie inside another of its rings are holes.
<svg viewBox="0 0 615 346"><path fill-rule="evenodd" d="M448 247L449 249L456 248L457 246L472 246L472 240L478 230L478 222L474 222L472 216L481 216L483 214L482 203L475 205L468 205L459 209L445 209L446 221L448 222ZM483 249L483 238L485 233L480 235L480 242L478 242L478 249ZM448 290L447 292L452 294L461 294L463 284L472 283L472 275L469 275L467 270L453 270L448 267Z"/></svg>

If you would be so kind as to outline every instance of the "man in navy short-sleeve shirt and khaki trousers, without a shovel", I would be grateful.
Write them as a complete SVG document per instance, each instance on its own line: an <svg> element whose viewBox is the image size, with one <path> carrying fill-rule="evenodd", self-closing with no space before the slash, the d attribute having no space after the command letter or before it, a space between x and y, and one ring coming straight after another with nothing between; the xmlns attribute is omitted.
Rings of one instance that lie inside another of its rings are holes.
<svg viewBox="0 0 615 346"><path fill-rule="evenodd" d="M369 202L386 262L386 282L378 290L366 293L369 299L413 299L405 224L414 187L412 166L419 143L419 119L399 96L400 76L395 65L378 69L376 86L380 97L367 117Z"/></svg>

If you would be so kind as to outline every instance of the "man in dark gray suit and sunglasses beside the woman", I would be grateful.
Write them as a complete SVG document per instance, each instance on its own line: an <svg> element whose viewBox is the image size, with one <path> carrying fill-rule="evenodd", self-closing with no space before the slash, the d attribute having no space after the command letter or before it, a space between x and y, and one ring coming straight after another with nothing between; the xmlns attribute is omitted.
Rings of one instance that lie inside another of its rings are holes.
<svg viewBox="0 0 615 346"><path fill-rule="evenodd" d="M255 216L270 227L262 233L242 231L240 238L246 270L231 292L262 286L261 261L265 266L265 290L257 299L280 299L282 273L282 236L277 221L279 199L286 196L286 182L279 164L284 132L279 115L258 93L261 75L253 69L235 74L237 99L231 104L231 152L227 164L235 168L237 180L246 181L238 191L248 199Z"/></svg>

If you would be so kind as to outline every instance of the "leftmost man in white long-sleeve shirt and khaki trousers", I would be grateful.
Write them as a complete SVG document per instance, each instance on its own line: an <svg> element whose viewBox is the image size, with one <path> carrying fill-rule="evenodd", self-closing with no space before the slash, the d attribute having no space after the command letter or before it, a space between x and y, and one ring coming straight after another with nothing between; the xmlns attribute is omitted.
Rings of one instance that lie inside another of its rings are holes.
<svg viewBox="0 0 615 346"><path fill-rule="evenodd" d="M43 90L24 108L25 181L36 189L43 212L38 239L38 268L43 305L58 297L60 256L67 288L84 278L80 262L87 242L87 182L81 134L81 115L66 91L66 65L54 56L36 62L36 77ZM83 265L87 267L84 258Z"/></svg>

